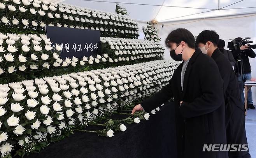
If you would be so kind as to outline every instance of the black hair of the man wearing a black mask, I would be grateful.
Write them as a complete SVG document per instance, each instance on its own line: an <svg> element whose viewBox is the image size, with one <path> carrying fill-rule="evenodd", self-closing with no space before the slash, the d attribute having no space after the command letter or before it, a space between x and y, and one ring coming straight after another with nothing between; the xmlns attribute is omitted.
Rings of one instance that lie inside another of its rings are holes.
<svg viewBox="0 0 256 158"><path fill-rule="evenodd" d="M177 45L184 41L189 48L195 49L195 37L194 35L184 28L178 28L170 32L165 39L165 45L169 46L169 42L176 43Z"/></svg>

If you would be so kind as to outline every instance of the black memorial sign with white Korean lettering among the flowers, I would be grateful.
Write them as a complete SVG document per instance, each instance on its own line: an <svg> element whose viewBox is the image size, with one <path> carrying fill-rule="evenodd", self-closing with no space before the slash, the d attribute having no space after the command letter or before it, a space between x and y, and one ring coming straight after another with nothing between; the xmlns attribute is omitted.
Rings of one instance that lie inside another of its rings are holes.
<svg viewBox="0 0 256 158"><path fill-rule="evenodd" d="M98 30L46 26L46 36L53 42L53 49L56 48L56 44L61 46L60 57L62 59L101 54L100 31Z"/></svg>

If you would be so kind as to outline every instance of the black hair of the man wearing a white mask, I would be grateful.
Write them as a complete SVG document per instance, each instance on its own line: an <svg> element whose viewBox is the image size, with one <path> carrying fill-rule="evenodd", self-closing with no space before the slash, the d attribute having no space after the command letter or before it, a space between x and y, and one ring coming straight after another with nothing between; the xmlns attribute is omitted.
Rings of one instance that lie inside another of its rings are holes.
<svg viewBox="0 0 256 158"><path fill-rule="evenodd" d="M206 44L207 41L211 41L215 46L218 45L219 35L216 31L204 30L196 38L196 44Z"/></svg>

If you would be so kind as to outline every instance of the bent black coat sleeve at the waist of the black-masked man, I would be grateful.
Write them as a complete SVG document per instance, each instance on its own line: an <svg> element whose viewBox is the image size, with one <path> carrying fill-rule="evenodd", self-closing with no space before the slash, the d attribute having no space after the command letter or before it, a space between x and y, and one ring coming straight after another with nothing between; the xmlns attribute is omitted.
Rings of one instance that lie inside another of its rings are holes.
<svg viewBox="0 0 256 158"><path fill-rule="evenodd" d="M223 81L216 63L214 60L207 60L202 65L199 68L202 96L191 103L181 104L180 112L184 118L211 113L224 103Z"/></svg>

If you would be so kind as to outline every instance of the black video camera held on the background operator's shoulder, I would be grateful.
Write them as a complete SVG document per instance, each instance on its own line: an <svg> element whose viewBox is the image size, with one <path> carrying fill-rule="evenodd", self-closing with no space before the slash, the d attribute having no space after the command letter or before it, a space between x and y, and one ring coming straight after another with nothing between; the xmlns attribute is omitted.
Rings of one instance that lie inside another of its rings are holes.
<svg viewBox="0 0 256 158"><path fill-rule="evenodd" d="M241 46L248 45L249 43L253 43L253 41L249 41L248 39L251 39L250 37L247 37L245 39L242 38L235 38L230 39L231 42L228 42L228 48L229 50L237 50ZM256 45L248 45L251 49L256 49Z"/></svg>

